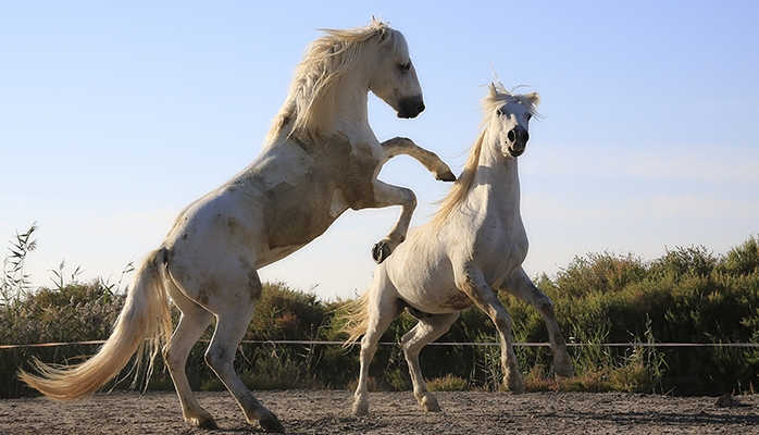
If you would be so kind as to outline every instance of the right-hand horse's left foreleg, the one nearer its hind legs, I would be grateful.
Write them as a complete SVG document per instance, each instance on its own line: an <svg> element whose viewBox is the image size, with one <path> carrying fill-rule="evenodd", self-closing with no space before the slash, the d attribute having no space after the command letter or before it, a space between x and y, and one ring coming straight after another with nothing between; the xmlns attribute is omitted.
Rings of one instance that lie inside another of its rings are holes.
<svg viewBox="0 0 759 435"><path fill-rule="evenodd" d="M473 268L466 268L463 279L459 282L459 288L474 301L495 323L501 339L501 366L503 368L503 381L512 393L523 393L524 384L519 373L517 353L514 353L511 328L513 322L511 314L498 300L496 294L487 285L482 273Z"/></svg>

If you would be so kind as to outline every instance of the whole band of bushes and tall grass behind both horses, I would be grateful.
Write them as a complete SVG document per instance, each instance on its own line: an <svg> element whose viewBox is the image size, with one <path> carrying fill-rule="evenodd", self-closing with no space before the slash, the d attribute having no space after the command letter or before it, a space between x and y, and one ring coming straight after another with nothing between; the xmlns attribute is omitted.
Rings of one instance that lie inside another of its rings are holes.
<svg viewBox="0 0 759 435"><path fill-rule="evenodd" d="M11 240L0 283L0 344L104 339L124 300L119 284L76 281L76 270L53 272L53 285L30 288L24 262L35 247L36 226ZM127 266L128 270L129 266ZM536 277L555 302L571 347L576 375L553 376L547 347L518 347L527 390L619 390L679 395L725 394L759 386L756 348L610 347L607 343L759 343L758 239L724 254L705 247L675 248L652 261L613 253L575 258L555 276ZM525 302L499 295L514 321L515 341L547 343L539 313ZM247 340L339 340L335 312L348 301L324 301L312 291L265 283ZM176 312L174 313L176 316ZM175 319L176 322L176 319ZM402 314L383 341L398 343L415 320ZM203 339L211 337L212 328ZM461 313L444 341L497 343L480 310ZM221 389L203 360L207 343L194 347L187 372L195 389ZM90 345L0 350L0 397L34 394L15 378L33 356L67 363L97 350ZM500 388L500 350L494 346L427 346L421 355L425 376L437 389ZM358 347L242 344L236 370L252 389L346 388L358 375ZM123 376L126 376L126 372ZM398 346L381 346L370 369L373 388L408 389L406 360ZM109 387L122 387L128 382ZM151 388L172 388L159 363Z"/></svg>

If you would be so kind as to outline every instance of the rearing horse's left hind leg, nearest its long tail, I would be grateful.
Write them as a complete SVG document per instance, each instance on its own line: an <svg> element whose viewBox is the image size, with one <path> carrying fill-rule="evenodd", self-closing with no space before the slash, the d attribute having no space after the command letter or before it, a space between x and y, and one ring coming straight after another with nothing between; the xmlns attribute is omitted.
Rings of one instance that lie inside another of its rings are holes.
<svg viewBox="0 0 759 435"><path fill-rule="evenodd" d="M169 373L179 396L182 414L186 422L202 428L215 428L216 423L210 412L198 405L187 381L185 366L192 345L213 322L213 314L187 298L175 285L167 283L169 294L182 311L179 324L163 349Z"/></svg>

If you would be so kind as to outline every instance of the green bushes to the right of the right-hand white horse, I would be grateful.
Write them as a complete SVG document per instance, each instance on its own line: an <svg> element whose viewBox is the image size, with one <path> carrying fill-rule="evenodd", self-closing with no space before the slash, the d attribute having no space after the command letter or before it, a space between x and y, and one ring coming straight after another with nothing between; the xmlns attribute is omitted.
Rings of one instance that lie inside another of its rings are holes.
<svg viewBox="0 0 759 435"><path fill-rule="evenodd" d="M594 335L607 343L758 343L756 246L751 237L725 256L676 248L650 263L593 254L555 279L542 277L538 287L553 299L562 331L580 343L593 343ZM592 361L614 366L638 358L619 348L583 350L582 358L573 352L580 373L589 372ZM725 394L759 382L756 349L660 348L644 356L650 386L661 391Z"/></svg>

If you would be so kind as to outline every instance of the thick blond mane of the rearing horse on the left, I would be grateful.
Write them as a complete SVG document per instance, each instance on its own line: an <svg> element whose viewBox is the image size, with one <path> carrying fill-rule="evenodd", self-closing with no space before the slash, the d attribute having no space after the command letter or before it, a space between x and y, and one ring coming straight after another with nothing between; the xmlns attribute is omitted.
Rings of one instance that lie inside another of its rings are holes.
<svg viewBox="0 0 759 435"><path fill-rule="evenodd" d="M288 138L295 135L310 144L322 144L321 135L332 126L338 109L336 90L361 60L366 41L376 38L380 46L389 47L390 55L409 55L403 35L374 17L363 27L320 30L324 35L306 48L295 69L287 99L272 121L264 147L275 146L277 136L290 123Z"/></svg>

